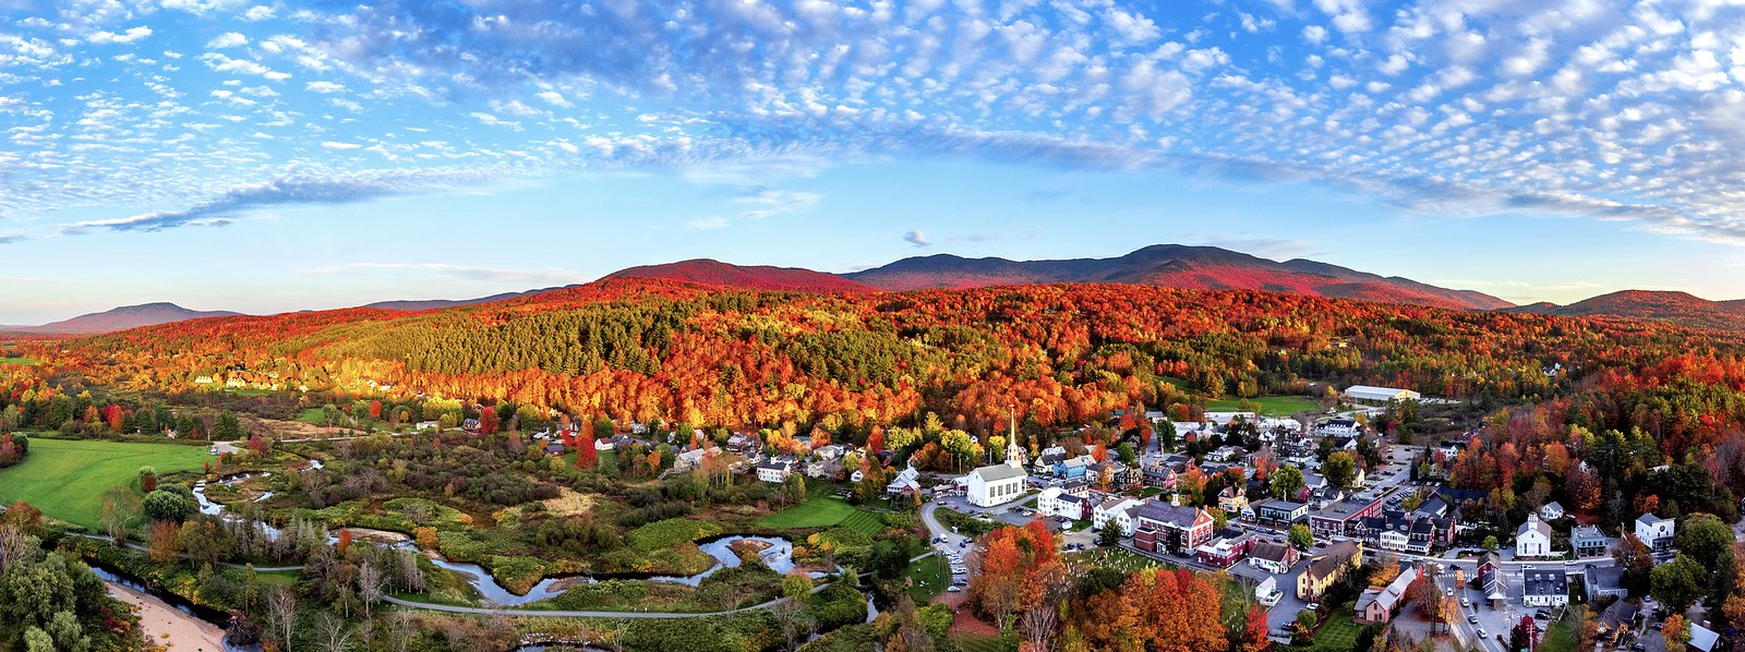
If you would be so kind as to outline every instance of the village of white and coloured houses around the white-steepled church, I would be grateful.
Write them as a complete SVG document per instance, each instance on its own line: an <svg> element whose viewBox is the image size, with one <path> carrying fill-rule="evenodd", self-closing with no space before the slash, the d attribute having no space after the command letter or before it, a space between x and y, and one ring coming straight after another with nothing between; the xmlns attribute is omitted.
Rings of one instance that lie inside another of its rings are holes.
<svg viewBox="0 0 1745 652"><path fill-rule="evenodd" d="M1509 650L1522 622L1530 621L1543 638L1572 603L1583 603L1600 649L1672 649L1658 629L1673 612L1649 596L1642 579L1626 579L1626 565L1670 563L1679 553L1679 518L1646 511L1607 532L1546 500L1501 528L1485 509L1487 492L1448 481L1483 427L1394 445L1372 420L1436 399L1368 385L1338 397L1338 410L1297 417L1204 411L1171 420L1148 411L1141 418L1171 436L1153 438L1143 452L1122 446L1131 455L1061 445L1030 452L1014 431L1005 450L986 455L989 464L960 474L921 472L893 450L811 448L808 438L782 450L752 432L735 432L724 446L684 450L674 469L726 455L733 471L764 483L843 479L857 495L920 504L934 544L953 560L953 593L974 581L963 561L970 539L955 539L958 526L941 526L944 513L956 514L953 523L967 518L989 526L1044 521L1061 533L1066 551L1101 546L1227 572L1267 608L1269 635L1279 643L1302 640L1316 622L1401 621L1410 622L1410 640L1443 635L1462 649ZM640 424L630 431L595 446L654 445ZM562 445L551 450L560 453ZM878 486L864 486L874 479L860 460L892 471ZM1745 539L1740 526L1735 533ZM1633 546L1651 558L1637 560ZM1693 605L1677 615L1689 622L1687 649L1712 652L1722 635L1705 628L1703 614Z"/></svg>

